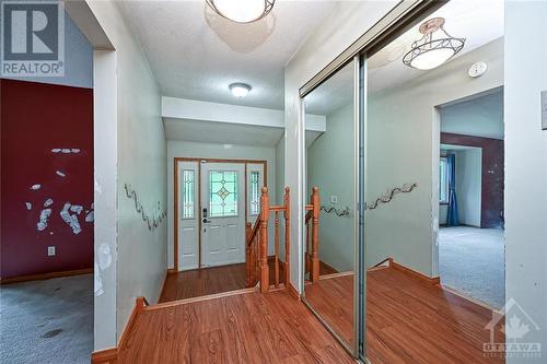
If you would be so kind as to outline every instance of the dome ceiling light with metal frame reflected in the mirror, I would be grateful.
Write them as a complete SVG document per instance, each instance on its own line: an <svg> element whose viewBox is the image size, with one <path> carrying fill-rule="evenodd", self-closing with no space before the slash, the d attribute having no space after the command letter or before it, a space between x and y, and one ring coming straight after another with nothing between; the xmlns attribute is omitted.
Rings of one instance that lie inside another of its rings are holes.
<svg viewBox="0 0 547 364"><path fill-rule="evenodd" d="M462 50L465 38L454 38L446 33L444 22L444 17L433 17L421 24L419 31L423 36L412 43L403 63L418 70L431 70Z"/></svg>

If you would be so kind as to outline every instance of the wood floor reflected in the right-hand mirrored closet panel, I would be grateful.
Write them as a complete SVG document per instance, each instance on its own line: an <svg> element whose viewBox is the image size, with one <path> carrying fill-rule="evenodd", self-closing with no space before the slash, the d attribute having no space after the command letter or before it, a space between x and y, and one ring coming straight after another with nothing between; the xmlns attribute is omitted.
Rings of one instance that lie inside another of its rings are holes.
<svg viewBox="0 0 547 364"><path fill-rule="evenodd" d="M485 327L491 318L491 310L395 269L368 272L372 363L503 363L484 357L482 344L490 342ZM500 325L497 342L504 341Z"/></svg>

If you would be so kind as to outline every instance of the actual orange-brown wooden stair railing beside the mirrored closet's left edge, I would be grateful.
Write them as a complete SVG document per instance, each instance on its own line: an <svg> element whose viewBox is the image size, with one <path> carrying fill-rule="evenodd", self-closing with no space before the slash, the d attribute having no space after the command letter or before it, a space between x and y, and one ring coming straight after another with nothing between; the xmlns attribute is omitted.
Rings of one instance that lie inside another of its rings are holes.
<svg viewBox="0 0 547 364"><path fill-rule="evenodd" d="M245 267L247 287L260 283L260 292L269 291L269 265L268 265L268 223L270 211L275 214L275 257L274 257L274 284L279 287L279 213L284 214L284 282L290 280L290 198L289 187L284 188L283 206L269 206L268 188L263 187L260 196L260 213L258 214L255 226L247 223L246 244L245 244Z"/></svg>

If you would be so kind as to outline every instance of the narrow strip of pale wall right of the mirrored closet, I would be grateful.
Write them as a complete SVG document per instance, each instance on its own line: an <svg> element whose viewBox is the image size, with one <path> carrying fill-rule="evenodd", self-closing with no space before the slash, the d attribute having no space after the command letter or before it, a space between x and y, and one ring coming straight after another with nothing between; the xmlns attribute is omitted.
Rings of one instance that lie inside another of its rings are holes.
<svg viewBox="0 0 547 364"><path fill-rule="evenodd" d="M522 26L526 24L526 26ZM539 92L547 90L547 2L505 1L505 297L534 320L519 342L547 356L547 130ZM522 313L512 312L521 319ZM511 313L510 313L511 315ZM508 342L509 342L508 338Z"/></svg>

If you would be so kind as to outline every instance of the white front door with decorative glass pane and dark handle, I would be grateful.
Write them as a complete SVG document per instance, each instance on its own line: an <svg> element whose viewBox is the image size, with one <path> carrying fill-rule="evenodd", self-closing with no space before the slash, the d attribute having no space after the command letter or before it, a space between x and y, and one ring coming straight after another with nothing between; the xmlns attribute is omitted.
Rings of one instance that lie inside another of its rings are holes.
<svg viewBox="0 0 547 364"><path fill-rule="evenodd" d="M201 163L205 267L245 262L245 164Z"/></svg>

